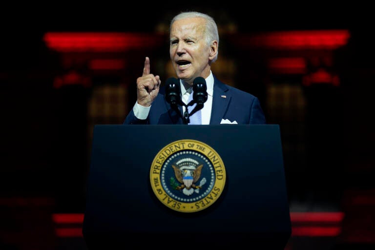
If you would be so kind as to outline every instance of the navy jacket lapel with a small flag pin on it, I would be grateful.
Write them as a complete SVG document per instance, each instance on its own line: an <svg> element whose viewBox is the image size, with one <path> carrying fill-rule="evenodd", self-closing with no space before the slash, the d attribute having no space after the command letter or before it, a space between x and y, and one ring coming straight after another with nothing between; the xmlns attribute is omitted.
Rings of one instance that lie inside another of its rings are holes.
<svg viewBox="0 0 375 250"><path fill-rule="evenodd" d="M219 125L228 108L231 95L228 87L214 76L210 125Z"/></svg>

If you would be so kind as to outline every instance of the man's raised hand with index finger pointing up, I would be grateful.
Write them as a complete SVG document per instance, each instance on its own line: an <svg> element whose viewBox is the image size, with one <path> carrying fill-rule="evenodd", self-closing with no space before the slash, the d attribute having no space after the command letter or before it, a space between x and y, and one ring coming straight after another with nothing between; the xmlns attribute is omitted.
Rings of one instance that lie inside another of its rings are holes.
<svg viewBox="0 0 375 250"><path fill-rule="evenodd" d="M146 57L141 77L137 78L137 102L148 107L159 93L160 77L150 74L150 59Z"/></svg>

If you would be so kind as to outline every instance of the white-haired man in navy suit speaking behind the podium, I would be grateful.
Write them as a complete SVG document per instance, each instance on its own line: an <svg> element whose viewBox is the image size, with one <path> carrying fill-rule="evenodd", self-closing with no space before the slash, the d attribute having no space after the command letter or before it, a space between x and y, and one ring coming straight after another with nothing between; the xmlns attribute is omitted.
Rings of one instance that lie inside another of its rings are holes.
<svg viewBox="0 0 375 250"><path fill-rule="evenodd" d="M178 14L170 23L169 39L169 55L185 104L189 103L188 93L194 79L206 80L208 95L199 124L266 123L257 97L220 82L211 72L211 63L218 56L219 35L210 16L199 12ZM181 113L167 102L165 86L160 85L160 76L150 74L150 59L146 57L143 74L137 79L137 102L124 124L183 124ZM185 108L183 105L182 113Z"/></svg>

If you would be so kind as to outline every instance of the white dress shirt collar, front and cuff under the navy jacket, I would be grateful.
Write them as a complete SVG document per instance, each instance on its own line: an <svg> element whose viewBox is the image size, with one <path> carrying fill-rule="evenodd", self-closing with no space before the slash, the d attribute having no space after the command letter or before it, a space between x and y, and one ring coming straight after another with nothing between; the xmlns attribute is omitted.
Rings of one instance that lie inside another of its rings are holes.
<svg viewBox="0 0 375 250"><path fill-rule="evenodd" d="M180 80L181 84L181 96L182 101L187 104L187 99L189 98L189 93L186 93L186 89L184 87L184 84L182 83L182 80ZM211 119L211 110L212 110L212 94L213 94L213 75L210 71L209 76L206 78L206 84L207 84L207 101L203 105L203 108L201 110L202 112L202 125L209 125L209 120ZM152 104L151 104L152 105ZM150 111L151 106L145 107L137 102L135 102L133 106L133 112L135 117L141 120L145 120L148 116L148 112ZM183 111L185 112L185 106L183 106Z"/></svg>

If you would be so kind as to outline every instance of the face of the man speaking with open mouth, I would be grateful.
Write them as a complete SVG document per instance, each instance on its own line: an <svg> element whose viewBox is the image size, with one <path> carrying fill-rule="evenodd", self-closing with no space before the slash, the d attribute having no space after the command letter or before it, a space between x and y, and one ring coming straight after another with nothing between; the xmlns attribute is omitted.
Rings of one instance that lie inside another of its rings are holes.
<svg viewBox="0 0 375 250"><path fill-rule="evenodd" d="M192 84L198 76L207 78L210 47L205 39L205 20L175 21L170 29L169 55L178 78Z"/></svg>

